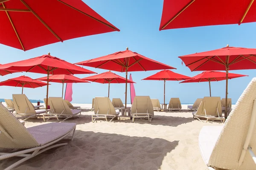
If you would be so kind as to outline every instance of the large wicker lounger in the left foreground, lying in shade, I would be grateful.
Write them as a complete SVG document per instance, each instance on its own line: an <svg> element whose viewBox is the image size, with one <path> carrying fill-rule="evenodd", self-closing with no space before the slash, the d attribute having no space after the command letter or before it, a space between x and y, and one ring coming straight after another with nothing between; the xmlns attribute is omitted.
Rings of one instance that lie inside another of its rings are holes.
<svg viewBox="0 0 256 170"><path fill-rule="evenodd" d="M73 140L76 130L76 123L57 122L26 128L2 104L0 115L0 148L6 148L5 153L0 153L0 160L23 157L5 170L17 167L46 150L67 145L67 142L59 141L71 132Z"/></svg>

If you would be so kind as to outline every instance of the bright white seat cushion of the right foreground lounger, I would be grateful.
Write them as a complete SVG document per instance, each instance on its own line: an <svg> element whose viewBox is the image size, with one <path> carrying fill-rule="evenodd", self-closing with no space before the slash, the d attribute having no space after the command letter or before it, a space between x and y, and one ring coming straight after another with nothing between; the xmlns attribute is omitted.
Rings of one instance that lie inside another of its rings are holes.
<svg viewBox="0 0 256 170"><path fill-rule="evenodd" d="M223 126L204 126L199 133L199 148L207 165L222 128Z"/></svg>

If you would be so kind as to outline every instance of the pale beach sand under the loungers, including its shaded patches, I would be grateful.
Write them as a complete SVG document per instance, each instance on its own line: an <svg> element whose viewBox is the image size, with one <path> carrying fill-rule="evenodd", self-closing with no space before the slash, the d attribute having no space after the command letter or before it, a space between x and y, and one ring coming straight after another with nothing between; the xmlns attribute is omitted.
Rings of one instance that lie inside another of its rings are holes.
<svg viewBox="0 0 256 170"><path fill-rule="evenodd" d="M191 112L155 112L151 123L141 119L92 123L91 114L87 109L81 118L65 121L77 124L74 141L65 140L66 146L48 150L15 170L206 170L198 134L202 126L223 125L199 122ZM43 123L28 119L25 126ZM0 169L19 159L0 161Z"/></svg>

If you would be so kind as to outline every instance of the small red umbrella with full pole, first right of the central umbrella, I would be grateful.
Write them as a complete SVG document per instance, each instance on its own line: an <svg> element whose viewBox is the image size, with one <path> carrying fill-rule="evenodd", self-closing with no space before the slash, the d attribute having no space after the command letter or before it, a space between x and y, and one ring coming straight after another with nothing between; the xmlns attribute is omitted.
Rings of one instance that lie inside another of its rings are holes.
<svg viewBox="0 0 256 170"><path fill-rule="evenodd" d="M159 71L156 74L153 74L149 77L146 77L142 80L163 80L164 86L163 86L163 105L165 105L165 82L168 81L180 81L185 79L191 79L191 77L184 76L182 74L177 74L170 70L163 70Z"/></svg>

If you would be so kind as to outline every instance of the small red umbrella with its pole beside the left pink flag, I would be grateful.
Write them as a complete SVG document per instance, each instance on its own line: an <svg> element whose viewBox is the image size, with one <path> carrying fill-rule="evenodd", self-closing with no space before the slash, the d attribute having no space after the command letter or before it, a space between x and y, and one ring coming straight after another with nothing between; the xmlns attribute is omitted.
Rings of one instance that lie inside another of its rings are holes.
<svg viewBox="0 0 256 170"><path fill-rule="evenodd" d="M47 77L41 77L41 78L38 78L36 80L41 80L41 81L46 81L47 82ZM79 82L88 82L88 81L82 80L82 79L80 79L78 77L75 77L73 75L57 74L57 75L49 76L49 82L62 83L62 98L63 98L64 83L79 83Z"/></svg>

